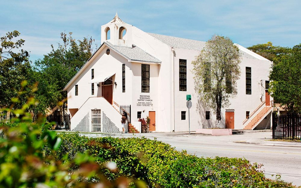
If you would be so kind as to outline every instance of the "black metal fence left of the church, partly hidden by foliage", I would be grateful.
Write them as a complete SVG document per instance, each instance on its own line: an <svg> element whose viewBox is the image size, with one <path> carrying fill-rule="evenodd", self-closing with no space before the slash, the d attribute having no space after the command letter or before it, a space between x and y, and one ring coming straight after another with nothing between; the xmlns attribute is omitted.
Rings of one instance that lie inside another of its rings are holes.
<svg viewBox="0 0 301 188"><path fill-rule="evenodd" d="M11 114L9 116L9 121L14 122L14 118L16 116L14 114ZM33 115L32 122L35 122L38 119L39 115L35 114ZM20 117L19 117L20 118ZM56 129L65 129L66 131L70 130L70 114L68 115L48 115L46 116L47 122L55 122Z"/></svg>

